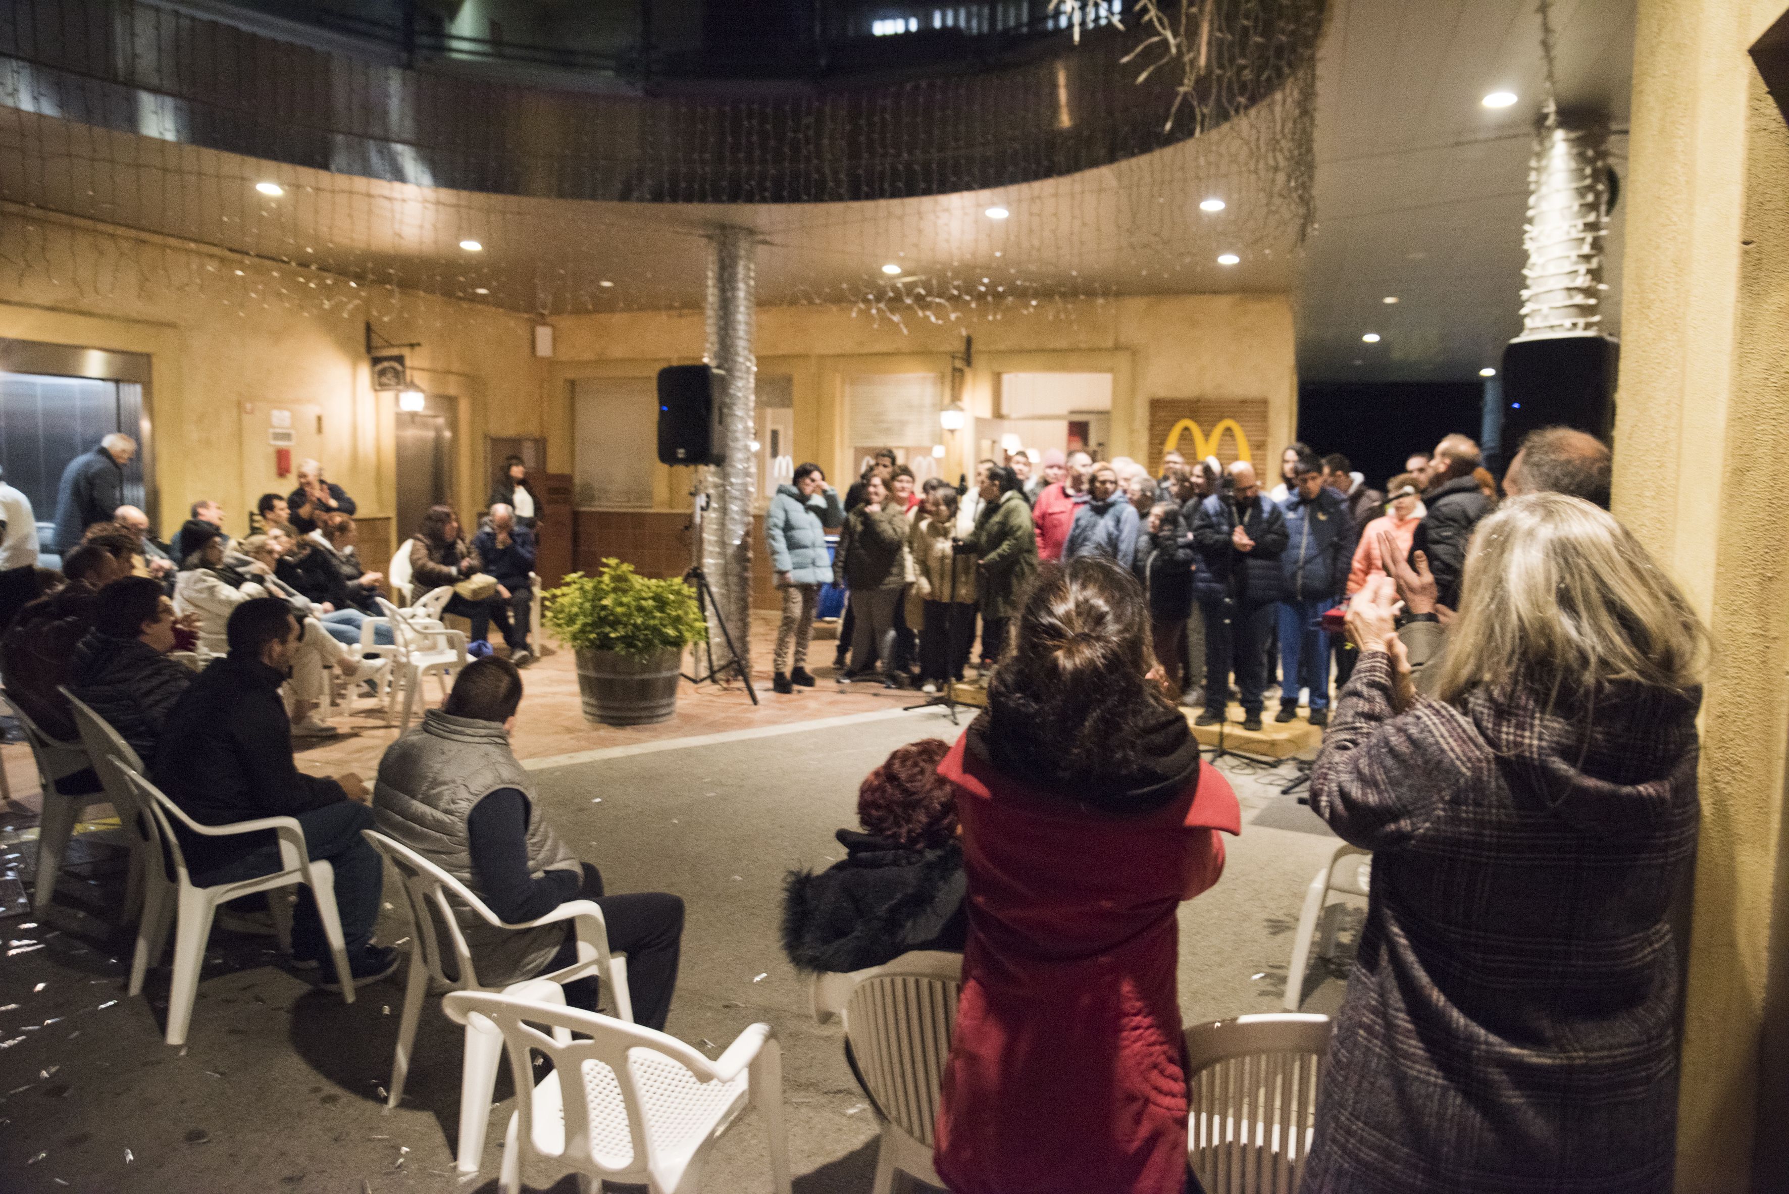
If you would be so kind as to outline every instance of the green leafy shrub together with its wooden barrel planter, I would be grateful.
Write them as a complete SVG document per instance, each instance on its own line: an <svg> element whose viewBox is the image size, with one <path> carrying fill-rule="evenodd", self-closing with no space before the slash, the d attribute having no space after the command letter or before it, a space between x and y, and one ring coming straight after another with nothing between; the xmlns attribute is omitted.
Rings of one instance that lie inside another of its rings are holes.
<svg viewBox="0 0 1789 1194"><path fill-rule="evenodd" d="M589 720L644 726L676 713L683 647L708 638L689 584L653 581L633 565L603 559L596 576L572 572L540 597L546 624L578 656Z"/></svg>

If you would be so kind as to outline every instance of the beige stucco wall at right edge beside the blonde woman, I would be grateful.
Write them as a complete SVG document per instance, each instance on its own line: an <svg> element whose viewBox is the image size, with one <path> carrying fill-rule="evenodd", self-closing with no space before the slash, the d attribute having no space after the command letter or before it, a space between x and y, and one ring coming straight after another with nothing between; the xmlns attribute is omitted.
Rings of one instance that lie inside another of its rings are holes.
<svg viewBox="0 0 1789 1194"><path fill-rule="evenodd" d="M1635 30L1615 515L1719 651L1678 1124L1678 1189L1696 1192L1789 1189L1789 520L1766 497L1789 458L1789 129L1746 55L1782 14L1641 0Z"/></svg>

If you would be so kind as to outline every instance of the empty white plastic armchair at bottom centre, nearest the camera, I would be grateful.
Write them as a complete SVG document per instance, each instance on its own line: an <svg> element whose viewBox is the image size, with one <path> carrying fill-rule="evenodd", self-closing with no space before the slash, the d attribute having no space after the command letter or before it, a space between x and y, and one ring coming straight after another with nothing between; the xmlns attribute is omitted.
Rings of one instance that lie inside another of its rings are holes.
<svg viewBox="0 0 1789 1194"><path fill-rule="evenodd" d="M558 983L528 983L517 994L456 990L444 1001L454 1022L496 1024L508 1049L517 1110L503 1142L503 1194L521 1194L524 1151L578 1173L585 1190L632 1181L651 1194L694 1194L710 1146L746 1106L764 1117L771 1187L791 1194L782 1051L769 1024L751 1024L710 1062L676 1037L567 1008L564 997ZM590 1038L572 1040L574 1031ZM553 1060L538 1085L537 1053ZM567 1078L581 1085L571 1097Z"/></svg>

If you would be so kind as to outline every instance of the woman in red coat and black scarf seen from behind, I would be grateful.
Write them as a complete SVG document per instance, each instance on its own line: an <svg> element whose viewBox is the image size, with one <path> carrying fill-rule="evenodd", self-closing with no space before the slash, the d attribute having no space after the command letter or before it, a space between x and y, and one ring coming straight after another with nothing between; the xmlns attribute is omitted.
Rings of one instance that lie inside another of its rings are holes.
<svg viewBox="0 0 1789 1194"><path fill-rule="evenodd" d="M1175 908L1242 817L1150 679L1149 602L1109 559L1048 568L957 785L970 933L937 1112L957 1194L1181 1194Z"/></svg>

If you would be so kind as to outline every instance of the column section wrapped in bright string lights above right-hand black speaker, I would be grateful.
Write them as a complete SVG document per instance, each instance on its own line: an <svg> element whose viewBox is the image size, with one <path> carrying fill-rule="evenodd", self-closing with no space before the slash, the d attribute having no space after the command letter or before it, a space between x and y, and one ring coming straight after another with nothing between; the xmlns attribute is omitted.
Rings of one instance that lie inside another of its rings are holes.
<svg viewBox="0 0 1789 1194"><path fill-rule="evenodd" d="M1601 334L1607 231L1608 130L1601 122L1565 122L1549 113L1535 136L1528 173L1528 284L1517 340Z"/></svg>

